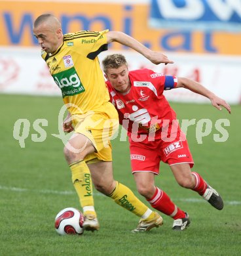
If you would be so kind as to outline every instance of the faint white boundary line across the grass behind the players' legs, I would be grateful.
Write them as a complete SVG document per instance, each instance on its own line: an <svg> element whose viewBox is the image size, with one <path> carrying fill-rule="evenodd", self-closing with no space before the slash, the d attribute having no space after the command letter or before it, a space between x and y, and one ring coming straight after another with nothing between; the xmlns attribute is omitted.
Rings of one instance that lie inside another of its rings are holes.
<svg viewBox="0 0 241 256"><path fill-rule="evenodd" d="M16 188L14 186L1 186L0 190L8 190L12 192L35 192L37 194L56 194L56 195L73 195L76 194L73 191L58 191L58 190L33 190L29 188ZM103 194L96 192L94 196L104 196ZM206 201L198 198L174 198L174 201L189 202L189 203L205 203ZM225 201L228 205L241 205L241 201Z"/></svg>

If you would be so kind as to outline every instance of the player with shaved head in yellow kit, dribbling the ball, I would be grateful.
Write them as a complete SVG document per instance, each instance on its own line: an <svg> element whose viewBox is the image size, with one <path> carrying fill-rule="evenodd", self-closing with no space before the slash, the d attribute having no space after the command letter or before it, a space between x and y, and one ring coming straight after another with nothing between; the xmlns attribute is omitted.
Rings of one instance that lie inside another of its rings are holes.
<svg viewBox="0 0 241 256"><path fill-rule="evenodd" d="M141 217L141 231L160 226L162 217L139 201L129 188L113 179L109 140L119 121L117 111L109 102L98 54L107 50L108 43L117 41L155 64L173 62L122 32L81 31L63 35L60 22L52 14L42 14L35 20L33 34L69 111L63 124L64 131L74 130L65 144L64 155L83 207L84 229L100 228L94 209L92 182L98 191Z"/></svg>

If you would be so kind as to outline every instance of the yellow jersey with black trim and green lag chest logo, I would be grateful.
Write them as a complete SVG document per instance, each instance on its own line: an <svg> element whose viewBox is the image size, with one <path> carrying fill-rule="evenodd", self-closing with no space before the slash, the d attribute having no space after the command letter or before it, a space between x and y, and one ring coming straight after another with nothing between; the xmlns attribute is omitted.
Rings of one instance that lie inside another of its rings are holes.
<svg viewBox="0 0 241 256"><path fill-rule="evenodd" d="M42 58L60 87L71 115L101 111L109 101L98 60L98 54L107 50L108 31L67 33L55 53L42 51Z"/></svg>

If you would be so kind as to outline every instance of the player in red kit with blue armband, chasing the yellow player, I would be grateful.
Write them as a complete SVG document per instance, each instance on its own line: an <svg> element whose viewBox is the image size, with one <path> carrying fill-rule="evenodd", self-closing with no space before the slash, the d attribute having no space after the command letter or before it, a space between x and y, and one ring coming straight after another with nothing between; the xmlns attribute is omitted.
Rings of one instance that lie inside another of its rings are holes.
<svg viewBox="0 0 241 256"><path fill-rule="evenodd" d="M108 55L102 62L111 101L119 113L121 125L128 131L132 173L139 194L151 206L174 219L174 230L185 230L189 215L179 209L170 197L155 186L160 161L168 163L177 183L200 194L216 209L223 209L223 200L200 174L191 171L193 157L185 134L181 131L176 113L163 95L166 89L184 87L210 98L213 106L221 110L231 108L225 100L205 87L184 77L174 77L153 70L128 71L122 54ZM142 220L133 230L144 228Z"/></svg>

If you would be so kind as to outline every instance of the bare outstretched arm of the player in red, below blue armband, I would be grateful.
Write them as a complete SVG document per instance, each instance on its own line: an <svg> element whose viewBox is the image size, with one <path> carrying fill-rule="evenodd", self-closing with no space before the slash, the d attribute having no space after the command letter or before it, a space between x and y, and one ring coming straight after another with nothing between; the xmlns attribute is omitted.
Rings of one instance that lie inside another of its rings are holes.
<svg viewBox="0 0 241 256"><path fill-rule="evenodd" d="M194 93L198 93L199 95L206 96L210 99L212 102L212 105L217 108L218 110L222 110L221 106L227 109L229 114L231 114L231 107L229 104L223 100L222 98L219 98L217 95L212 93L212 91L209 91L204 86L202 86L200 83L197 83L191 79L185 78L185 77L178 77L177 86L178 87L184 87L186 89L189 89L190 91L193 91Z"/></svg>

